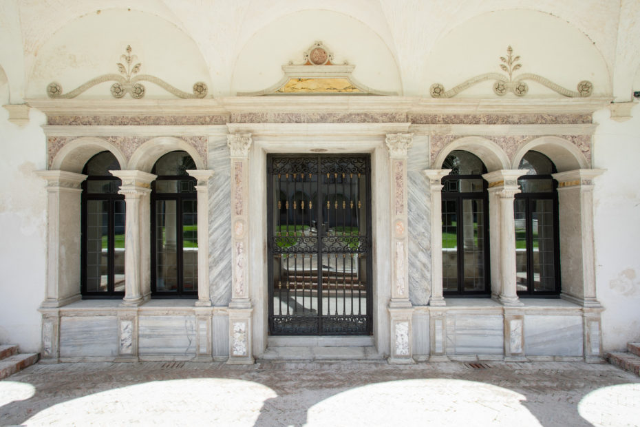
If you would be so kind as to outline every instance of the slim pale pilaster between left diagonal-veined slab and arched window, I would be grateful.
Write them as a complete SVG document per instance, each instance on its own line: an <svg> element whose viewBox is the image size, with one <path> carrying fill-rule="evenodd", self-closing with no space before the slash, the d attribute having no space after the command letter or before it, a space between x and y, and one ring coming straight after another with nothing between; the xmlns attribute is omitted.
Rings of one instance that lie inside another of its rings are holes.
<svg viewBox="0 0 640 427"><path fill-rule="evenodd" d="M198 180L198 301L196 306L211 306L209 296L209 178L211 170L186 171Z"/></svg>

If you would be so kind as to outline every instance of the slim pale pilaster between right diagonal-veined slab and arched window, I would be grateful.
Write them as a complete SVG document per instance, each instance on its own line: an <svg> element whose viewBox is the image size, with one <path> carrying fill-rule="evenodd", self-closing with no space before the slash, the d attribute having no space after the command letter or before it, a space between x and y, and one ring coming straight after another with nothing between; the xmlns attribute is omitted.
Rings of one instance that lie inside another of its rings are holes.
<svg viewBox="0 0 640 427"><path fill-rule="evenodd" d="M429 305L444 306L442 297L442 177L451 169L425 169L431 192L431 298Z"/></svg>

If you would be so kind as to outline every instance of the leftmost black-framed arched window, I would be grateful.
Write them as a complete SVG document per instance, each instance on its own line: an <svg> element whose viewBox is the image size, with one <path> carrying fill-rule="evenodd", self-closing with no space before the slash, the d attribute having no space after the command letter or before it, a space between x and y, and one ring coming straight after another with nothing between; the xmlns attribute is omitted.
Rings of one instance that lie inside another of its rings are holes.
<svg viewBox="0 0 640 427"><path fill-rule="evenodd" d="M89 159L82 185L83 298L125 295L125 196L120 178L111 175L120 164L110 152Z"/></svg>

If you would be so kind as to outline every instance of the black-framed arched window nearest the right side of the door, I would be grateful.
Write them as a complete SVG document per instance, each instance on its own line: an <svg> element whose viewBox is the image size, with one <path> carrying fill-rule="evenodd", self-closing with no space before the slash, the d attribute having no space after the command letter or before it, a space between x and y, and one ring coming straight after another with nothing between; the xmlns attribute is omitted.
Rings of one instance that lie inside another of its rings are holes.
<svg viewBox="0 0 640 427"><path fill-rule="evenodd" d="M487 172L477 156L453 151L442 164L442 292L489 295Z"/></svg>

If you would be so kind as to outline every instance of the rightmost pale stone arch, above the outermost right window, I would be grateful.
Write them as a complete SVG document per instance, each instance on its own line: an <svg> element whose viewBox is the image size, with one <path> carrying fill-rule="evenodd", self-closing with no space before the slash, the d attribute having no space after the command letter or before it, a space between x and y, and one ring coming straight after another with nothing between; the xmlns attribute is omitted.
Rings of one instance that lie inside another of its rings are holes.
<svg viewBox="0 0 640 427"><path fill-rule="evenodd" d="M589 163L582 152L568 140L559 136L541 136L526 143L518 150L513 157L511 169L518 169L524 154L532 149L550 158L559 172L589 167Z"/></svg>

